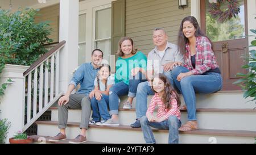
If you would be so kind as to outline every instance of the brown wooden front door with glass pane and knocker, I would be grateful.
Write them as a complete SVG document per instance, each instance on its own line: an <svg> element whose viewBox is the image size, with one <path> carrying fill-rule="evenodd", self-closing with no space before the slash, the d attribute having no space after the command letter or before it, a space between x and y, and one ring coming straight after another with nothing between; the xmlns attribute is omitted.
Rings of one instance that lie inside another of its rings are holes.
<svg viewBox="0 0 256 155"><path fill-rule="evenodd" d="M213 51L223 78L222 90L241 90L233 85L237 81L237 73L246 73L241 66L246 64L242 55L248 53L247 37L247 1L238 0L240 14L237 18L220 23L209 14L209 1L201 0L201 28L213 42ZM222 5L221 9L227 9Z"/></svg>

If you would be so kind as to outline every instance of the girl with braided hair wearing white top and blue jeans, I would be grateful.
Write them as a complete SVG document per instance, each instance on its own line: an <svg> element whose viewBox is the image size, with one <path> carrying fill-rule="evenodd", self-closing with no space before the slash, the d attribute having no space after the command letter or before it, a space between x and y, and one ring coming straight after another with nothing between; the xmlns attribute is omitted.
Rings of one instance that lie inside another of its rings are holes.
<svg viewBox="0 0 256 155"><path fill-rule="evenodd" d="M101 125L110 119L108 111L109 89L114 83L114 77L110 76L110 66L108 64L102 64L94 80L94 90L89 94L90 104L93 110L92 120L89 121L89 124Z"/></svg>

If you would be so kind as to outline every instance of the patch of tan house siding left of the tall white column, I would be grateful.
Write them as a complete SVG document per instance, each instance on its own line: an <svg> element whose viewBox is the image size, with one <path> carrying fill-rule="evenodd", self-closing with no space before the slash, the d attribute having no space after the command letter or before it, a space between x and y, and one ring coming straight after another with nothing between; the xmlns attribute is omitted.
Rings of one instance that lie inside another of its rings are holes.
<svg viewBox="0 0 256 155"><path fill-rule="evenodd" d="M35 18L36 22L49 21L50 27L52 28L51 35L49 38L53 42L59 42L59 14L60 14L60 5L53 5L44 7L40 9L39 16Z"/></svg>

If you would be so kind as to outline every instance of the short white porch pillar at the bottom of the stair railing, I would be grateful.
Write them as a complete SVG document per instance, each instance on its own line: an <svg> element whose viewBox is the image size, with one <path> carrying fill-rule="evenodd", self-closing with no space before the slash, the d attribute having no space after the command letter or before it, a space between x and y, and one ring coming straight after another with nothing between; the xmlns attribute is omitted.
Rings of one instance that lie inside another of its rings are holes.
<svg viewBox="0 0 256 155"><path fill-rule="evenodd" d="M0 118L8 119L11 122L9 133L6 138L6 143L9 143L9 138L13 137L16 132L22 131L24 124L24 77L23 73L29 66L20 65L5 65L2 74L0 74L0 84L5 83L11 78L14 81L7 86L5 95L1 97L0 103Z"/></svg>

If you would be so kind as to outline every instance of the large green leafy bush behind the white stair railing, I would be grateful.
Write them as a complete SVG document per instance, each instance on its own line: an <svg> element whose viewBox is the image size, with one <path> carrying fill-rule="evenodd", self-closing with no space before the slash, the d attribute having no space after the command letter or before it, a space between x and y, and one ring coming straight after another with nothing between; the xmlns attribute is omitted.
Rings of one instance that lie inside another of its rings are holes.
<svg viewBox="0 0 256 155"><path fill-rule="evenodd" d="M48 38L52 30L48 22L35 22L38 11L0 9L0 73L6 64L30 66L47 52L44 44L52 42ZM1 85L0 96L7 85L8 81Z"/></svg>

